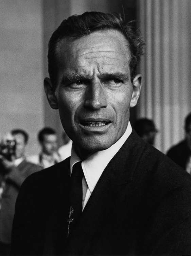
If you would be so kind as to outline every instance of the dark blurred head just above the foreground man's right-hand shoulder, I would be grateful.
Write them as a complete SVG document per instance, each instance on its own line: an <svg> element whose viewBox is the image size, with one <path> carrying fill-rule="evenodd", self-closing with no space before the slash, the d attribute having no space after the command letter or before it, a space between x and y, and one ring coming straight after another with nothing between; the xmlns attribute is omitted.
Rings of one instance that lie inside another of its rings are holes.
<svg viewBox="0 0 191 256"><path fill-rule="evenodd" d="M153 120L148 118L137 119L133 128L145 142L154 145L156 133L158 131L155 128Z"/></svg>

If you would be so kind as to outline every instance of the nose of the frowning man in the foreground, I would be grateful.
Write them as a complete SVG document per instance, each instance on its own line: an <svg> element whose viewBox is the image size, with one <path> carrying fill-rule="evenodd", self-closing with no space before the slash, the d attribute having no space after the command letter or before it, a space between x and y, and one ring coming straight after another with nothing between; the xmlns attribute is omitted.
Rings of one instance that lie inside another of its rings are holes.
<svg viewBox="0 0 191 256"><path fill-rule="evenodd" d="M107 107L106 89L100 81L93 81L86 89L85 108L98 110Z"/></svg>

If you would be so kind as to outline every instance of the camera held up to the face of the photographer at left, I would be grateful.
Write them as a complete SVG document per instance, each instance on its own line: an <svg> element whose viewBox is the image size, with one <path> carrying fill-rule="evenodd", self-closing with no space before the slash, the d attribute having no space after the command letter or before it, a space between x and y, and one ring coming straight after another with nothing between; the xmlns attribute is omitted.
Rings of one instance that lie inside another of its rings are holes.
<svg viewBox="0 0 191 256"><path fill-rule="evenodd" d="M15 155L16 141L11 134L7 134L0 142L0 155L11 161Z"/></svg>

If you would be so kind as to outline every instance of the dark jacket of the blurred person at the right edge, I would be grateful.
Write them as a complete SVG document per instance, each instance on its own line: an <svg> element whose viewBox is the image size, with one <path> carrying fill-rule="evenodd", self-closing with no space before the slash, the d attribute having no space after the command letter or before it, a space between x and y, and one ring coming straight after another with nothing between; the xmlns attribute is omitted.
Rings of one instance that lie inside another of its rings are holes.
<svg viewBox="0 0 191 256"><path fill-rule="evenodd" d="M186 163L191 156L191 150L188 148L186 140L171 147L167 152L167 156L177 163L177 165L186 170Z"/></svg>

